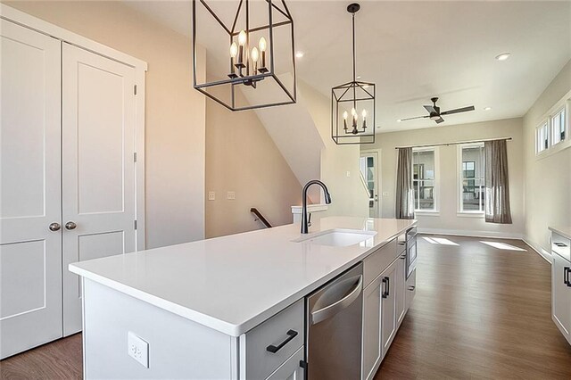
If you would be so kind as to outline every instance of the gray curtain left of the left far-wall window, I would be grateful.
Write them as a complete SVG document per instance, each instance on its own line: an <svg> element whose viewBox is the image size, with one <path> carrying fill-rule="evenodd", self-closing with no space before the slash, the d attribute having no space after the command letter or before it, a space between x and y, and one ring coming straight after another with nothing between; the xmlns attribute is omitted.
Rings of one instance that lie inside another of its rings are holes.
<svg viewBox="0 0 571 380"><path fill-rule="evenodd" d="M396 219L414 218L414 193L412 189L412 148L399 148L396 169Z"/></svg>

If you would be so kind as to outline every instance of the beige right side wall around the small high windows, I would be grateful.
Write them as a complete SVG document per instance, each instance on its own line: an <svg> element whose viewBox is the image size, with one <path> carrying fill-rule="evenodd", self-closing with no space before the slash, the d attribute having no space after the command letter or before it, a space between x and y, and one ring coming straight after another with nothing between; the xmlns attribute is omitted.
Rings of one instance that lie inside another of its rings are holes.
<svg viewBox="0 0 571 380"><path fill-rule="evenodd" d="M550 252L548 227L571 226L571 148L536 159L534 133L544 114L569 91L571 61L524 118L525 240L547 252Z"/></svg>

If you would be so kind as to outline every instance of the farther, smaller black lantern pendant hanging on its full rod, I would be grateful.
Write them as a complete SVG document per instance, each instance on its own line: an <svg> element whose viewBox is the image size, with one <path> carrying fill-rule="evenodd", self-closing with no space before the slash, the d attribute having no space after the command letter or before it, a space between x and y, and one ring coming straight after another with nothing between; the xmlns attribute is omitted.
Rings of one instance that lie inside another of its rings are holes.
<svg viewBox="0 0 571 380"><path fill-rule="evenodd" d="M331 88L331 137L337 145L375 143L375 84L358 81L355 71L355 13L359 10L360 4L347 6L352 14L352 81Z"/></svg>

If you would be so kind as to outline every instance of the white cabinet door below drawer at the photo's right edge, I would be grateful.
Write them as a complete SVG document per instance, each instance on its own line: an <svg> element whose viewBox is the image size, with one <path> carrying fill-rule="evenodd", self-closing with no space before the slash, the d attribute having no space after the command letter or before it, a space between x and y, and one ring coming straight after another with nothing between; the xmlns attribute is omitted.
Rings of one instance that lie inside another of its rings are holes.
<svg viewBox="0 0 571 380"><path fill-rule="evenodd" d="M571 343L571 263L553 252L551 265L551 312L567 342Z"/></svg>

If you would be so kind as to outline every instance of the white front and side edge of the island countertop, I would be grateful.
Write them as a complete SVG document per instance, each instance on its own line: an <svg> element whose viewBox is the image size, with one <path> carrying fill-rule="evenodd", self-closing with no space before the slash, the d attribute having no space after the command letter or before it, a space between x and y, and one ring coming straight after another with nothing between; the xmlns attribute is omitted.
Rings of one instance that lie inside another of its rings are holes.
<svg viewBox="0 0 571 380"><path fill-rule="evenodd" d="M226 335L237 337L237 336L243 335L244 333L250 331L253 327L260 325L266 319L276 315L277 312L284 310L289 305L293 304L294 302L297 302L302 297L305 297L307 294L318 289L319 286L326 284L328 281L337 277L338 275L343 273L348 268L351 268L356 263L360 262L361 260L364 260L366 257L368 257L368 255L377 251L377 249L381 248L382 246L384 246L385 244L387 244L388 242L390 242L391 240L396 238L398 235L401 235L403 232L405 232L409 228L417 226L417 220L416 219L411 219L410 221L411 221L411 223L409 226L403 227L403 228L395 231L393 233L393 235L389 235L388 237L385 238L385 240L379 242L378 244L376 244L373 247L370 247L367 251L362 252L359 256L355 257L354 259L347 261L341 267L336 268L335 270L327 273L326 276L319 278L319 280L314 281L313 283L311 283L308 286L305 286L304 288L302 288L298 292L295 292L295 293L285 297L282 301L275 303L274 305L272 305L268 309L261 311L256 316L245 320L244 322L242 322L239 325L235 325L235 324L229 323L225 320L222 320L220 318L215 318L215 317L212 317L210 315L206 315L206 314L203 314L201 312L198 312L196 310L192 310L192 309L187 308L185 306L181 306L177 303L167 301L161 297L157 297L153 294L143 292L143 291L138 290L132 286L121 284L120 282L114 281L114 280L109 279L107 277L97 275L93 272L90 272L90 271L84 269L84 268L79 268L79 267L75 266L74 264L69 265L69 270L70 270L70 272L75 273L76 275L79 275L80 277L84 277L84 278L87 278L88 280L94 281L95 283L105 285L105 286L110 287L110 288L112 288L112 289L114 289L120 293L125 293L131 297L136 298L139 301L147 302L153 306L161 308L162 310L170 311L173 314L178 315L179 317L186 318L186 319L191 320L194 323L197 323L199 325L209 327L213 330L219 331L220 333L223 333Z"/></svg>

